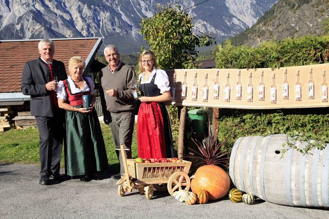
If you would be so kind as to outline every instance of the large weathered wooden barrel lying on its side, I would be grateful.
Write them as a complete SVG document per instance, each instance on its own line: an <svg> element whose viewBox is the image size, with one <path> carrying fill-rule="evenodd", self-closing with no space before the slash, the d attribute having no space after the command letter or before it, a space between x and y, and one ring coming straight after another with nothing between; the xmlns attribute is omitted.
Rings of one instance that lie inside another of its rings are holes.
<svg viewBox="0 0 329 219"><path fill-rule="evenodd" d="M230 156L233 184L279 205L329 207L329 144L305 155L289 149L281 158L286 139L285 134L240 137Z"/></svg>

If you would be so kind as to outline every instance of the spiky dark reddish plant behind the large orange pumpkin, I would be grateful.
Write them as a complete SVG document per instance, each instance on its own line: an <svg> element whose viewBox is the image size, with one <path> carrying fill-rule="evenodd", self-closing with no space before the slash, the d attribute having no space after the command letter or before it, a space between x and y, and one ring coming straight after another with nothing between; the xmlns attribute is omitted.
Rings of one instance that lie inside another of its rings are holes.
<svg viewBox="0 0 329 219"><path fill-rule="evenodd" d="M198 151L190 148L191 152L186 157L192 158L196 167L213 164L228 169L230 158L227 154L229 151L224 149L228 138L219 142L216 136L210 135L205 141L197 137L192 137L191 140L197 146Z"/></svg>

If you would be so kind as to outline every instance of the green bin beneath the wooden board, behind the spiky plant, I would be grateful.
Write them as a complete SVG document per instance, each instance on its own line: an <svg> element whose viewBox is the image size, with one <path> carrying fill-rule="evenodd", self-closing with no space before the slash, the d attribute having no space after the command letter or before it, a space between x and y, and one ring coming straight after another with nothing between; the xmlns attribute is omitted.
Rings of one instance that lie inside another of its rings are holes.
<svg viewBox="0 0 329 219"><path fill-rule="evenodd" d="M191 120L193 132L204 133L207 130L207 110L194 109L187 112Z"/></svg>

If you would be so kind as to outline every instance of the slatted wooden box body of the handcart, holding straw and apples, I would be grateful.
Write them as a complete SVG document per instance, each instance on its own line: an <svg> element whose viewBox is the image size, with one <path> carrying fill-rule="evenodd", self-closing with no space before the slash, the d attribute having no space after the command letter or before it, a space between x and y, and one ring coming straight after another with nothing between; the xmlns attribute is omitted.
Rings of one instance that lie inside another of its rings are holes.
<svg viewBox="0 0 329 219"><path fill-rule="evenodd" d="M137 163L134 159L127 159L129 175L148 184L167 183L169 177L175 172L189 173L191 162L178 163ZM153 159L151 159L153 162Z"/></svg>

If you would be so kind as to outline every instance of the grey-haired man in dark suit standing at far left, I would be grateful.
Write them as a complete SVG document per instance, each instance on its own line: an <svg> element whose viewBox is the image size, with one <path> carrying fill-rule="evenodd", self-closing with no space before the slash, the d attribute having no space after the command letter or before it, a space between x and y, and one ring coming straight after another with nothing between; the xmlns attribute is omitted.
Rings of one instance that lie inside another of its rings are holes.
<svg viewBox="0 0 329 219"><path fill-rule="evenodd" d="M35 116L40 133L39 184L49 185L49 179L63 180L59 171L65 111L58 107L56 88L57 81L66 79L67 74L64 63L53 59L55 46L50 39L42 39L38 50L40 57L24 65L21 89L23 94L31 96L31 115Z"/></svg>

